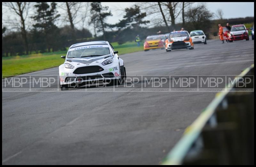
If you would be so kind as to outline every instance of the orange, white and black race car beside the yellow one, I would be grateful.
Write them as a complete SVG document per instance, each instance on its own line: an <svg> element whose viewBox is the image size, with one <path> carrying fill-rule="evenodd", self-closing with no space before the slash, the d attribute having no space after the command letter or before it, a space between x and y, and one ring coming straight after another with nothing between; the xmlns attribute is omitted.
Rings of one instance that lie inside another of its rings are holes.
<svg viewBox="0 0 256 167"><path fill-rule="evenodd" d="M193 39L188 31L174 31L170 33L165 41L165 50L169 52L173 49L194 49Z"/></svg>

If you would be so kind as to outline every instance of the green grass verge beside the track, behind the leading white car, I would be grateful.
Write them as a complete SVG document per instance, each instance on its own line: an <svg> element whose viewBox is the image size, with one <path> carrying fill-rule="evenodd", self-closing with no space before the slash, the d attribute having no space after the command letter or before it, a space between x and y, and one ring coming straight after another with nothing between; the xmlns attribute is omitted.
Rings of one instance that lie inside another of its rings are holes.
<svg viewBox="0 0 256 167"><path fill-rule="evenodd" d="M115 48L115 51L118 51L118 55L143 51L143 43L140 44L140 47L137 47L137 43L135 42L126 42L122 45L118 45L117 42L111 44ZM66 54L67 51L60 51L3 57L2 78L58 67L64 62L64 59L61 59L60 56L66 56Z"/></svg>

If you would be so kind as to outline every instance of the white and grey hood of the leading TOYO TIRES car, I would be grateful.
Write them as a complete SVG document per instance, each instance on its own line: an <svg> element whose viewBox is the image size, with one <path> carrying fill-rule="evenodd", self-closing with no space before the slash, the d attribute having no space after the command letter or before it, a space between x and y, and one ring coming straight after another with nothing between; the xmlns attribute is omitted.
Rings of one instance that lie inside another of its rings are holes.
<svg viewBox="0 0 256 167"><path fill-rule="evenodd" d="M97 57L84 57L84 58L71 58L71 59L67 58L64 63L69 63L75 66L78 63L83 63L83 64L102 63L109 58L112 58L111 54L104 55L104 56L97 56Z"/></svg>

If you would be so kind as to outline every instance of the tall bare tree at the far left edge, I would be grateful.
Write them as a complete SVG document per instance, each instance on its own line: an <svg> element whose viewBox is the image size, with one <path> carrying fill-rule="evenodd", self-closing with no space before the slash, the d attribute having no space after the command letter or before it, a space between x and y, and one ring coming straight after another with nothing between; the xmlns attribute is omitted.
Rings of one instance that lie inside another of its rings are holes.
<svg viewBox="0 0 256 167"><path fill-rule="evenodd" d="M6 6L12 13L19 16L19 20L9 20L6 22L10 24L13 28L17 28L21 31L22 38L24 40L26 54L28 54L28 38L26 32L26 19L28 17L28 11L31 7L29 2L4 2L4 6Z"/></svg>

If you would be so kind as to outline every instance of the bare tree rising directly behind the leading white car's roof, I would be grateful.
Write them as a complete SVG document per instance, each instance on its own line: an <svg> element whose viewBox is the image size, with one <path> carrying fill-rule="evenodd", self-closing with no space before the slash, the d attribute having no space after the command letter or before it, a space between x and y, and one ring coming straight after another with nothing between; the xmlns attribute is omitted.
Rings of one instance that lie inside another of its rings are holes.
<svg viewBox="0 0 256 167"><path fill-rule="evenodd" d="M88 6L89 3L84 2L65 2L58 5L61 9L65 10L62 14L62 20L69 22L72 33L72 40L76 41L76 27L77 23L82 22L83 28L85 19L89 14Z"/></svg>

